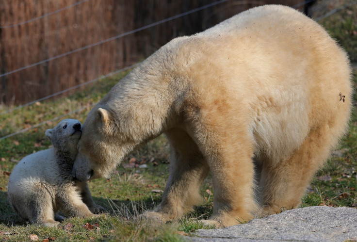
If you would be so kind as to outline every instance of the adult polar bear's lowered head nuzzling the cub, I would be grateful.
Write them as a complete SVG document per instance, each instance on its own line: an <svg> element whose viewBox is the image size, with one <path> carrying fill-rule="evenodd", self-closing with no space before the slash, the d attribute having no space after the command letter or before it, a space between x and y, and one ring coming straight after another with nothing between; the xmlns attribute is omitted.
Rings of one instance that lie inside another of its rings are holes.
<svg viewBox="0 0 357 242"><path fill-rule="evenodd" d="M127 148L119 130L119 120L108 108L94 107L88 114L78 143L72 176L79 181L109 177L123 159ZM128 142L130 143L130 142ZM124 145L123 145L124 144Z"/></svg>

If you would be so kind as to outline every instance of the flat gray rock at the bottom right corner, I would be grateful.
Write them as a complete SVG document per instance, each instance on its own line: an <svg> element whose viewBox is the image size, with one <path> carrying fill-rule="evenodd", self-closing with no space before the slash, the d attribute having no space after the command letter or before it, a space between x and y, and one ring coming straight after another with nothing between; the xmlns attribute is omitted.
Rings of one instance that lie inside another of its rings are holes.
<svg viewBox="0 0 357 242"><path fill-rule="evenodd" d="M357 240L357 209L306 207L287 210L247 224L221 229L199 229L194 242ZM187 238L187 237L186 237Z"/></svg>

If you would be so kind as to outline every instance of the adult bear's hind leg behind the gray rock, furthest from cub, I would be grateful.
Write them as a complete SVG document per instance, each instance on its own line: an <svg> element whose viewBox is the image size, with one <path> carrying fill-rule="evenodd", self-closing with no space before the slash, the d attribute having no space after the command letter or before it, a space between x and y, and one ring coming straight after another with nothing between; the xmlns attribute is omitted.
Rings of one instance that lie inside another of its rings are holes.
<svg viewBox="0 0 357 242"><path fill-rule="evenodd" d="M265 163L262 170L262 216L296 208L315 172L336 145L328 124L310 131L303 144L288 159Z"/></svg>

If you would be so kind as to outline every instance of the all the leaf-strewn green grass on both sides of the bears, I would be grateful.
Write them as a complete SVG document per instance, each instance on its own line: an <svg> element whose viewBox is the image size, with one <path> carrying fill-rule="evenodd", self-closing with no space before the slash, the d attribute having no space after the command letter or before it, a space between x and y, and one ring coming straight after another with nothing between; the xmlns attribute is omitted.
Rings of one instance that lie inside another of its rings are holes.
<svg viewBox="0 0 357 242"><path fill-rule="evenodd" d="M321 21L331 35L347 49L352 60L357 60L357 39L353 32L353 26L357 26L356 13L357 7L352 6ZM36 103L3 114L0 116L0 137L70 113L80 107L86 107L81 112L69 116L83 122L91 105L97 103L126 74L127 72L124 72L102 79L95 85L72 92L66 97ZM357 73L354 74L356 86ZM355 95L354 102L356 101ZM11 107L0 106L0 112L9 108ZM164 136L148 142L123 162L127 163L135 157L138 163L145 163L146 168L119 166L110 179L96 179L89 182L94 200L107 210L99 218L68 218L59 228L45 228L19 221L7 202L6 186L9 173L16 162L24 156L50 147L50 142L44 133L46 129L53 128L58 121L54 120L0 140L0 239L2 241L29 241L31 234L36 234L39 241L46 241L53 237L56 241L182 241L185 237L180 234L184 235L199 228L210 228L198 222L200 219L208 218L212 212L213 196L210 193L214 191L210 177L201 188L201 194L206 198L206 202L195 207L193 214L179 222L162 225L155 221L142 220L137 216L143 210L152 209L161 201L162 193L152 193L152 190L163 190L168 178L169 147ZM356 110L352 115L349 132L338 148L342 155L332 156L325 167L318 171L303 198L303 207L316 205L357 207L355 144L357 144ZM98 226L89 230L88 226L85 227L87 223L89 225L97 223ZM72 226L65 229L68 225Z"/></svg>

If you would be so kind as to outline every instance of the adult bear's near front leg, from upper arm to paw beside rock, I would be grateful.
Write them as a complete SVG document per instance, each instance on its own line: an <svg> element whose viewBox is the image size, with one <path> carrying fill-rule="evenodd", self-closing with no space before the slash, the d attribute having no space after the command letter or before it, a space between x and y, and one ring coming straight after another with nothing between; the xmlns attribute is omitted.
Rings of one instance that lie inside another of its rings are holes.
<svg viewBox="0 0 357 242"><path fill-rule="evenodd" d="M249 221L259 206L254 199L255 143L246 116L228 104L206 106L212 108L201 109L193 125L193 136L207 157L214 185L213 213L203 222L224 227Z"/></svg>

